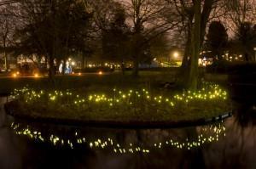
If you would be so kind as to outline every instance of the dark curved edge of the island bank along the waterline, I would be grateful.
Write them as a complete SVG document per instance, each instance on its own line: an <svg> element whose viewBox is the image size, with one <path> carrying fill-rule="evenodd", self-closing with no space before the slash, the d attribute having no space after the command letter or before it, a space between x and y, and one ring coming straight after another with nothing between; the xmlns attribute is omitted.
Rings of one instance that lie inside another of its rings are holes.
<svg viewBox="0 0 256 169"><path fill-rule="evenodd" d="M13 105L14 102L4 104L4 110L8 115L14 116L18 120L52 123L67 126L79 126L79 127L108 127L108 128L173 128L173 127L191 127L202 126L217 121L223 121L224 119L232 115L231 112L223 113L209 119L198 119L195 121L101 121L101 120L80 120L80 119L60 119L54 117L42 117L31 115L19 115L17 109Z"/></svg>

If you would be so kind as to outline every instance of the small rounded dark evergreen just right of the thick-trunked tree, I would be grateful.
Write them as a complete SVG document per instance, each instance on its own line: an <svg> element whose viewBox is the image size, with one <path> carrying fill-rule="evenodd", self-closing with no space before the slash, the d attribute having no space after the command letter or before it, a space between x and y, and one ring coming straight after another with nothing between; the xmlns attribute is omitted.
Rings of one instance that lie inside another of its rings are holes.
<svg viewBox="0 0 256 169"><path fill-rule="evenodd" d="M213 59L222 59L228 43L229 37L224 25L220 21L212 21L207 33L206 48L211 51Z"/></svg>

